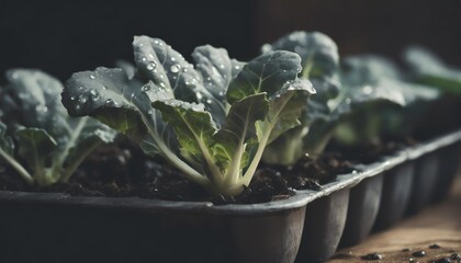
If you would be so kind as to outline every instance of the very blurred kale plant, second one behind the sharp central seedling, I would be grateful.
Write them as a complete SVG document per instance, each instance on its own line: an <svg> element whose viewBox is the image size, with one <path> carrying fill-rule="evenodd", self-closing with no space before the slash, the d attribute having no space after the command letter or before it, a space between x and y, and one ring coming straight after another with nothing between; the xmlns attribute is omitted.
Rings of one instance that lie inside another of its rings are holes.
<svg viewBox="0 0 461 263"><path fill-rule="evenodd" d="M396 136L400 132L390 130L386 122L402 122L411 106L439 96L435 89L402 79L398 68L382 57L367 55L344 59L345 93L338 108L348 115L336 138L347 145L367 145L379 141L384 133ZM406 121L407 127L413 125L411 119Z"/></svg>

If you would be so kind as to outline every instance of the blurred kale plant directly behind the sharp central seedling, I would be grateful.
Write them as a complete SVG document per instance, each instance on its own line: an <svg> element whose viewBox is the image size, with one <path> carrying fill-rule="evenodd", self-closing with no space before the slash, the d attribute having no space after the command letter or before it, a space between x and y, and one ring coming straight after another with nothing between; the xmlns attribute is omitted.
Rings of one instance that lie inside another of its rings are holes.
<svg viewBox="0 0 461 263"><path fill-rule="evenodd" d="M263 160L267 163L278 163L289 165L296 162L306 150L316 147L317 141L327 141L328 134L316 134L318 128L313 129L312 126L318 126L319 123L336 123L337 108L330 101L335 100L341 85L338 81L339 75L339 55L335 42L327 35L318 32L293 32L282 36L273 44L266 44L263 52L268 50L290 50L294 52L302 58L303 70L300 76L308 78L316 93L314 96L302 99L302 96L293 98L292 107L295 114L301 116L293 117L285 122L286 125L277 134L273 132L273 140L267 147ZM295 106L297 104L297 107ZM301 110L301 112L299 112ZM290 114L286 114L290 117ZM301 125L301 126L297 126ZM288 132L285 132L288 130ZM283 134L282 136L279 136ZM307 142L307 144L306 144ZM322 142L321 145L325 145Z"/></svg>

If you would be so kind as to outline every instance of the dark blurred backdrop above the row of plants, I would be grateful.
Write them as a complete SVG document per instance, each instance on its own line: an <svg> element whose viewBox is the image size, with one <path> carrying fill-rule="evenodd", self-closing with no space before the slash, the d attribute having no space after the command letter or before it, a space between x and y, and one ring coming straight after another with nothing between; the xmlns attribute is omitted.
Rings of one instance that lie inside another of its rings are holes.
<svg viewBox="0 0 461 263"><path fill-rule="evenodd" d="M461 66L461 0L0 0L0 75L41 68L65 80L132 61L133 35L140 34L187 58L211 44L246 60L294 30L328 34L341 55L398 58L406 45L421 44Z"/></svg>

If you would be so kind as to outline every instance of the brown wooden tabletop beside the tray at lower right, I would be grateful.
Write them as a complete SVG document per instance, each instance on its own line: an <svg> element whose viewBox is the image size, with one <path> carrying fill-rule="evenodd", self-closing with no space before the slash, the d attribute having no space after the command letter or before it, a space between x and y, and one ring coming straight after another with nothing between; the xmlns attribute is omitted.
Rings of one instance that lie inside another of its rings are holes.
<svg viewBox="0 0 461 263"><path fill-rule="evenodd" d="M431 244L440 248L429 249ZM425 256L412 255L421 250L426 252ZM380 253L382 260L370 262L430 262L461 254L461 176L457 178L450 196L442 203L370 236L356 247L338 251L328 262L367 262L361 256L374 252Z"/></svg>

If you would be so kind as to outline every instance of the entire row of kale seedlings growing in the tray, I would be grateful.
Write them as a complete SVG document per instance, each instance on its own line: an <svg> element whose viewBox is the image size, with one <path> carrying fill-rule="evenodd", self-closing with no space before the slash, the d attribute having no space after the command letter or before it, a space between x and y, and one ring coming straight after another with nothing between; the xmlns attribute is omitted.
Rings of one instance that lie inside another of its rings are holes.
<svg viewBox="0 0 461 263"><path fill-rule="evenodd" d="M135 65L76 72L64 87L37 70L7 72L0 165L32 185L67 182L119 133L211 194L234 196L261 161L292 165L333 138L359 146L409 135L427 105L461 93L460 71L420 48L408 49L403 73L379 56L340 60L317 32L285 35L247 62L205 45L190 64L148 36L133 49Z"/></svg>

